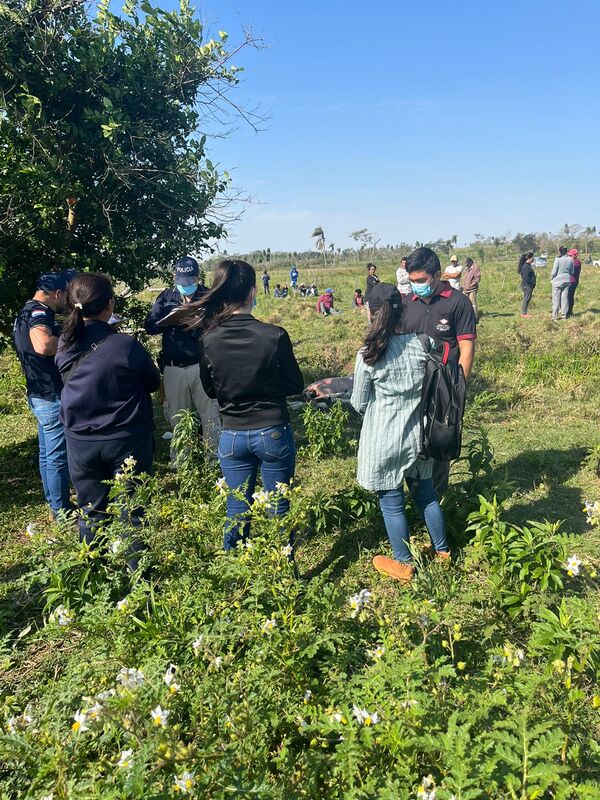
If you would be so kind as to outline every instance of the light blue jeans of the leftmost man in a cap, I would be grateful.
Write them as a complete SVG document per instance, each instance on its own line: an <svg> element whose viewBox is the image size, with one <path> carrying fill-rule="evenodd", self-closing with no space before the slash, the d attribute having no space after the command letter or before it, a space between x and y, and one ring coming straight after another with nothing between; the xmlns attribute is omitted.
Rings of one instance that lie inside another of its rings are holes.
<svg viewBox="0 0 600 800"><path fill-rule="evenodd" d="M69 468L67 466L67 443L60 421L60 398L44 400L43 397L28 397L29 408L37 420L40 443L40 476L46 502L54 514L68 511Z"/></svg>

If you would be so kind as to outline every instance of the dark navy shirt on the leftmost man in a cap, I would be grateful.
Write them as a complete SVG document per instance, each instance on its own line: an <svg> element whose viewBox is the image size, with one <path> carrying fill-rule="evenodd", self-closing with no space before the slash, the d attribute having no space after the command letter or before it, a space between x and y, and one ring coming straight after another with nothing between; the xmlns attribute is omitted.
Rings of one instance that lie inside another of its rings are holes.
<svg viewBox="0 0 600 800"><path fill-rule="evenodd" d="M62 380L54 363L54 356L41 356L33 349L29 331L38 327L48 328L53 336L60 333L50 306L39 300L28 300L13 326L15 348L25 373L27 394L30 397L54 400L60 397Z"/></svg>

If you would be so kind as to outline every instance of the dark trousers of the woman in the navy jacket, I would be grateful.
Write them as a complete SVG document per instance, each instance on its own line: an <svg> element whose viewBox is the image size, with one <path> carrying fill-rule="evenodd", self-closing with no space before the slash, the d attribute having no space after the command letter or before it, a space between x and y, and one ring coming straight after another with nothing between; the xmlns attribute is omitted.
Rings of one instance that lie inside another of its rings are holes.
<svg viewBox="0 0 600 800"><path fill-rule="evenodd" d="M150 431L142 436L136 434L97 442L73 439L67 435L67 460L81 511L79 536L82 541L93 542L97 529L106 521L110 487L104 481L115 477L128 456L136 460L133 469L135 475L152 473L154 437ZM127 492L133 486L124 484L123 488ZM143 514L143 508L133 509L129 520L133 528L141 526ZM137 548L133 545L132 549Z"/></svg>

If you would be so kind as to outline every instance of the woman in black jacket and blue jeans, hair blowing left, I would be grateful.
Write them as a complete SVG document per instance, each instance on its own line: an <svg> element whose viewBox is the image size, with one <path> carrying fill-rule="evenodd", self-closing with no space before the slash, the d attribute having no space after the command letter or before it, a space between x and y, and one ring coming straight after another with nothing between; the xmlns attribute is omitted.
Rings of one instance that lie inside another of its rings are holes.
<svg viewBox="0 0 600 800"><path fill-rule="evenodd" d="M212 288L197 303L190 324L200 326L200 378L219 403L223 431L218 456L225 482L245 499L229 494L224 547L248 535L258 470L264 489L289 484L296 448L286 397L304 388L287 332L252 316L256 273L245 261L222 261ZM285 514L289 500L279 495L273 513Z"/></svg>

